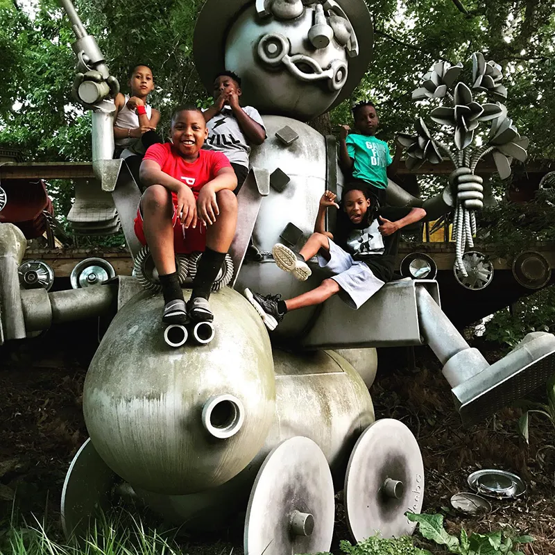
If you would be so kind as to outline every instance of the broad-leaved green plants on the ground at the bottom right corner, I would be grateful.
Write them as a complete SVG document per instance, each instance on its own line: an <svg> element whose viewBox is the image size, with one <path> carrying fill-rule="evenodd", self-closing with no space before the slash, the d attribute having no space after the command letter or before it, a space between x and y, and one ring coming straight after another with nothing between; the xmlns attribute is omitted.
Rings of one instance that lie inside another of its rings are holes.
<svg viewBox="0 0 555 555"><path fill-rule="evenodd" d="M417 515L407 513L407 518L418 522L418 531L427 540L432 540L438 545L445 545L450 553L459 555L522 555L514 550L520 543L533 542L531 536L518 536L513 538L506 532L494 531L490 533L466 533L461 527L459 538L452 536L443 528L443 515Z"/></svg>

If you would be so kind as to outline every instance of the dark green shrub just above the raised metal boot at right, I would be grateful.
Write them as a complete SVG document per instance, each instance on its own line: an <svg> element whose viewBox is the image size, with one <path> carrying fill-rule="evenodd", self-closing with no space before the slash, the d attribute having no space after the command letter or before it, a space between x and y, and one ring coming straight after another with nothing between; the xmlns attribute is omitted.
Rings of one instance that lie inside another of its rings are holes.
<svg viewBox="0 0 555 555"><path fill-rule="evenodd" d="M520 298L512 311L509 308L497 311L486 323L484 339L513 348L527 333L554 331L555 287L549 286Z"/></svg>

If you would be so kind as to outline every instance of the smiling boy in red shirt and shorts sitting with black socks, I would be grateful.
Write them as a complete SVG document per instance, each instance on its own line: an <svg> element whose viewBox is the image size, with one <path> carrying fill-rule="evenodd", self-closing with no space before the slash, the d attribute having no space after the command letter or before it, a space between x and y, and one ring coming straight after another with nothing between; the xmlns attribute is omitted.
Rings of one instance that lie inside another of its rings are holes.
<svg viewBox="0 0 555 555"><path fill-rule="evenodd" d="M201 150L208 130L194 105L177 108L171 118L172 144L148 148L141 164L144 192L135 234L148 244L162 293L162 322L212 321L208 299L235 234L237 178L219 152ZM176 271L175 253L204 251L185 305Z"/></svg>

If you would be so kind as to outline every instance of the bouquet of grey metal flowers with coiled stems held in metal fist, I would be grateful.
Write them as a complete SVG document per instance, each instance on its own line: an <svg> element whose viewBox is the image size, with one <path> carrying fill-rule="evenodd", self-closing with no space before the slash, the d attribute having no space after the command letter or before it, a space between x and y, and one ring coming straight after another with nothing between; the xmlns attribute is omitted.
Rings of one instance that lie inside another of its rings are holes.
<svg viewBox="0 0 555 555"><path fill-rule="evenodd" d="M486 62L480 52L472 54L471 61L470 86L459 80L463 73L461 62L453 66L440 62L422 77L421 86L413 91L413 100L440 102L431 110L429 117L441 128L430 130L419 118L415 123L416 135L399 135L399 142L407 147L406 164L409 169L423 162L438 164L442 161L439 149L447 154L455 167L449 180L456 197L453 219L455 268L465 277L463 253L467 245L470 248L474 246L475 210L484 205L482 180L474 174L477 164L486 154L493 153L499 177L506 179L511 175L513 158L521 162L526 160L529 143L527 137L520 137L513 120L507 117L505 106L499 101L488 102L488 98L495 101L507 96L506 88L501 85L501 66L493 61ZM487 129L481 128L480 124L484 122L491 122L488 133L484 133ZM444 136L452 137L452 144L438 139L439 130ZM478 135L481 144L476 144Z"/></svg>

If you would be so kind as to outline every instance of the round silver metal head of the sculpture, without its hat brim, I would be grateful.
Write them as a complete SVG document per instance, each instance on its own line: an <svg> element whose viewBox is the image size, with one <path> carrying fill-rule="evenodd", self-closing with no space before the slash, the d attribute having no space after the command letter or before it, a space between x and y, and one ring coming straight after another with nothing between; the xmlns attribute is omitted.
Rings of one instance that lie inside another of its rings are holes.
<svg viewBox="0 0 555 555"><path fill-rule="evenodd" d="M300 80L283 62L270 67L257 54L259 40L264 35L279 33L289 40L290 56L308 56L324 70L334 60L347 64L347 52L335 38L326 48L312 46L308 32L313 25L314 8L308 6L295 19L258 17L254 4L237 17L225 41L225 68L241 76L244 105L254 106L264 114L282 114L302 121L309 121L330 108L341 89L330 89L327 79Z"/></svg>

